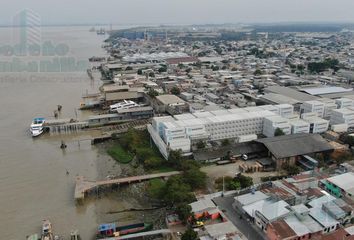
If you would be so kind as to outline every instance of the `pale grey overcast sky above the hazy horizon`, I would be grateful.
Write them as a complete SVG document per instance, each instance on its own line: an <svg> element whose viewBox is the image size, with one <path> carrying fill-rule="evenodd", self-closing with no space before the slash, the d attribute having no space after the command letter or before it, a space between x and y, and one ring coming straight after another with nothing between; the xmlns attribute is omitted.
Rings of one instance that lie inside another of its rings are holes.
<svg viewBox="0 0 354 240"><path fill-rule="evenodd" d="M0 23L18 11L43 24L354 22L354 0L1 0Z"/></svg>

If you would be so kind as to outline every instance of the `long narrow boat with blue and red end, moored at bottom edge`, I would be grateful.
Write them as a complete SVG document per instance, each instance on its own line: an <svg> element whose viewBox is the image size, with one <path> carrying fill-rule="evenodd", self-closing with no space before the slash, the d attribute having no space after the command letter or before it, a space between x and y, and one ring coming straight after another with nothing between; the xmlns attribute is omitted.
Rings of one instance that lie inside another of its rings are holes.
<svg viewBox="0 0 354 240"><path fill-rule="evenodd" d="M125 226L117 226L116 223L101 224L98 227L97 239L147 232L152 230L152 228L152 223L134 223Z"/></svg>

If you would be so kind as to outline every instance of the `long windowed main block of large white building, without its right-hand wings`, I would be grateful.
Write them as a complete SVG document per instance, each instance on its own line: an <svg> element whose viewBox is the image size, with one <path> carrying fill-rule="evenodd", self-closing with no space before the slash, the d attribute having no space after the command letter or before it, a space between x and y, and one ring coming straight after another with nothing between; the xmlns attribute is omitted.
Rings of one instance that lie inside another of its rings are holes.
<svg viewBox="0 0 354 240"><path fill-rule="evenodd" d="M155 117L148 131L164 157L168 150L191 151L193 142L254 138L263 132L263 119L276 114L254 107ZM247 137L246 137L247 136Z"/></svg>

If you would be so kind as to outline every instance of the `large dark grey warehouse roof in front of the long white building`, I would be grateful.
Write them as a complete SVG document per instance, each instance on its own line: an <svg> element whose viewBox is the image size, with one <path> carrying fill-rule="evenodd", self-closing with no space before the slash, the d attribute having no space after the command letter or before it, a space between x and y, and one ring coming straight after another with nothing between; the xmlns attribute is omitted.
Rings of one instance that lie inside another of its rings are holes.
<svg viewBox="0 0 354 240"><path fill-rule="evenodd" d="M333 147L318 134L293 134L255 140L263 143L276 158L332 151Z"/></svg>

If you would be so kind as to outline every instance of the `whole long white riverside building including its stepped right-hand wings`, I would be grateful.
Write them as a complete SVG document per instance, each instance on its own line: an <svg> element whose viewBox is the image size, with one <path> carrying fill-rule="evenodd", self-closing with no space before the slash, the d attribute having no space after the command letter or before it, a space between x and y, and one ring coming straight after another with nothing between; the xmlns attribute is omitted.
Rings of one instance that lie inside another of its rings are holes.
<svg viewBox="0 0 354 240"><path fill-rule="evenodd" d="M272 137L277 128L285 134L309 132L311 123L294 116L293 106L288 104L199 111L173 117L155 117L148 131L167 159L169 150L181 149L183 153L190 153L191 146L201 140L235 139L245 142L254 140L259 134ZM320 127L323 119L316 114L311 117L314 119L313 132L322 132L324 128ZM324 127L328 128L328 121L323 121L326 124Z"/></svg>

